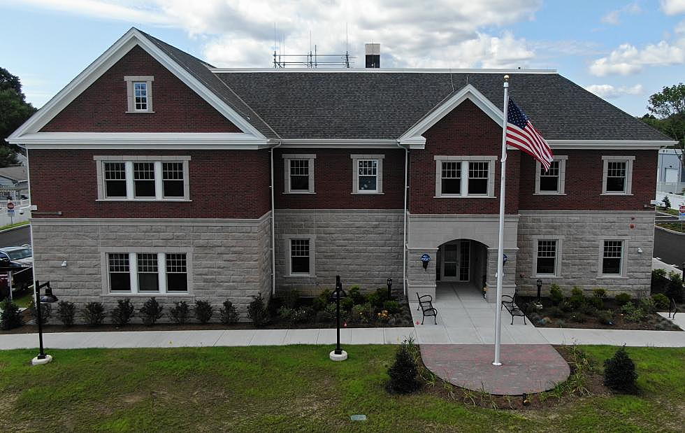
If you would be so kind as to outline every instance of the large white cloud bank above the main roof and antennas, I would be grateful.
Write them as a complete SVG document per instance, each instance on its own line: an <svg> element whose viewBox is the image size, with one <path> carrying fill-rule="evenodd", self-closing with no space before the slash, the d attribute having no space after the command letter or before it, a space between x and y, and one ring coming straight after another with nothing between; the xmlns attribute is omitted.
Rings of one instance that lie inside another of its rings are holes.
<svg viewBox="0 0 685 433"><path fill-rule="evenodd" d="M140 24L204 39L216 66L271 66L274 23L286 52L356 55L380 42L384 67L526 67L534 50L502 27L532 20L542 0L28 0L34 6ZM345 27L349 36L346 45ZM497 28L500 30L497 30Z"/></svg>

